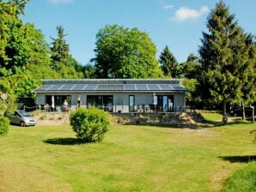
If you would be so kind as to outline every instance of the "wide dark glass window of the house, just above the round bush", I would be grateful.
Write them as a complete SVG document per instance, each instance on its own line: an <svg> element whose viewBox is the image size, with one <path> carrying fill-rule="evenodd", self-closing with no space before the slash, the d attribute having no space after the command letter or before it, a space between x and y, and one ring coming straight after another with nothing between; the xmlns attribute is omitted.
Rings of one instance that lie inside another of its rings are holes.
<svg viewBox="0 0 256 192"><path fill-rule="evenodd" d="M96 106L105 111L113 112L113 95L88 95L87 106Z"/></svg>

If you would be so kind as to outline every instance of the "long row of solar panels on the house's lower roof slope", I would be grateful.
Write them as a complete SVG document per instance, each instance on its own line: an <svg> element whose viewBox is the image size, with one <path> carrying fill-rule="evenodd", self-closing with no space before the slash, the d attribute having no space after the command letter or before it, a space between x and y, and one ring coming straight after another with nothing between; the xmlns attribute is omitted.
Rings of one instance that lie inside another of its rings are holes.
<svg viewBox="0 0 256 192"><path fill-rule="evenodd" d="M180 84L46 84L35 91L186 91Z"/></svg>

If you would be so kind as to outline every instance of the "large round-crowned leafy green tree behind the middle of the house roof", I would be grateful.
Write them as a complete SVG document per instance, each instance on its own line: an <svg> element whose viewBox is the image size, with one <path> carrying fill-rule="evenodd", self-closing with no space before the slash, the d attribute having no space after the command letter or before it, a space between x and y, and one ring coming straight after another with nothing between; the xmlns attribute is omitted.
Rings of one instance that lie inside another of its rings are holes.
<svg viewBox="0 0 256 192"><path fill-rule="evenodd" d="M118 25L96 34L95 63L98 78L150 78L162 72L155 60L156 47L148 33Z"/></svg>

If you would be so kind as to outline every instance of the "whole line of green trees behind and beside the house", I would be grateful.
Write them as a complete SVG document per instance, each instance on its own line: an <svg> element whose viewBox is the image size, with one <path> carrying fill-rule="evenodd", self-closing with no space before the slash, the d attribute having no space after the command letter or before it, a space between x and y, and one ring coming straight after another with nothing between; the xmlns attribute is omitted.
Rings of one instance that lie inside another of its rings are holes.
<svg viewBox="0 0 256 192"><path fill-rule="evenodd" d="M207 19L198 55L178 63L166 46L156 58L149 34L118 25L96 34L95 56L81 64L70 54L63 27L49 45L44 34L24 23L27 0L0 1L0 93L34 97L45 78L183 78L187 105L216 109L227 103L255 102L255 36L245 33L225 3L216 3ZM12 99L13 98L13 99Z"/></svg>

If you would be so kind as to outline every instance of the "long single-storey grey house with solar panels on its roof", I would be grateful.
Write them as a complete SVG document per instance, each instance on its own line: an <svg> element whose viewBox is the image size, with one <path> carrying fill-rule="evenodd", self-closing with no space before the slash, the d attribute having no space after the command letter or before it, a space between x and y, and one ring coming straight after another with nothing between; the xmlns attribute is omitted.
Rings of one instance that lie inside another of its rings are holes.
<svg viewBox="0 0 256 192"><path fill-rule="evenodd" d="M34 90L37 105L71 110L79 105L109 112L181 112L186 107L186 87L180 79L55 79L42 80Z"/></svg>

